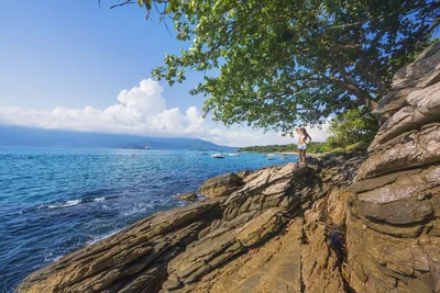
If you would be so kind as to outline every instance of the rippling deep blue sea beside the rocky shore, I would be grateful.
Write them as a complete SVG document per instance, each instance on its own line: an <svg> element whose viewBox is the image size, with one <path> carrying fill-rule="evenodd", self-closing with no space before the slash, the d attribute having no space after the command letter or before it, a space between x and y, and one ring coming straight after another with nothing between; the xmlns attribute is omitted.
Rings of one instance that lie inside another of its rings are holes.
<svg viewBox="0 0 440 293"><path fill-rule="evenodd" d="M135 156L133 157L133 154ZM211 177L268 165L257 154L0 147L0 292L157 211Z"/></svg>

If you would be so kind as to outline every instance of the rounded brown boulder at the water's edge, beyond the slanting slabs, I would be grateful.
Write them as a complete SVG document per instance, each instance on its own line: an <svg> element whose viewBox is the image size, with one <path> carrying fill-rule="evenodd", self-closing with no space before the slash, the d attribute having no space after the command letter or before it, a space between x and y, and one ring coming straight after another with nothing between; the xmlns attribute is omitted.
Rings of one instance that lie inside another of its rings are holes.
<svg viewBox="0 0 440 293"><path fill-rule="evenodd" d="M206 198L229 195L244 184L237 173L226 173L206 180L199 188L199 193Z"/></svg>

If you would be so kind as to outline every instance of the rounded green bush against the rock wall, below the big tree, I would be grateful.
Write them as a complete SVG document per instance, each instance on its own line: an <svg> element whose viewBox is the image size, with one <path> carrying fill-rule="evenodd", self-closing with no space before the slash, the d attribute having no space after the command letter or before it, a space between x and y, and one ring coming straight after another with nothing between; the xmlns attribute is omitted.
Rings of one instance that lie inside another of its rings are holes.
<svg viewBox="0 0 440 293"><path fill-rule="evenodd" d="M378 124L365 109L353 109L330 121L327 139L330 147L346 147L354 144L370 144L377 133Z"/></svg>

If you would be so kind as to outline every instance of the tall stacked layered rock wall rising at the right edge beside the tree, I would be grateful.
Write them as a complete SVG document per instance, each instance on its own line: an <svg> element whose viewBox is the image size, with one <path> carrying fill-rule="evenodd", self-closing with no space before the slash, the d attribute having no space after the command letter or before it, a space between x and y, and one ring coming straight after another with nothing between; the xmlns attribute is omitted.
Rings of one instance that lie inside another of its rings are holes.
<svg viewBox="0 0 440 293"><path fill-rule="evenodd" d="M395 75L350 188L349 284L440 292L440 43Z"/></svg>

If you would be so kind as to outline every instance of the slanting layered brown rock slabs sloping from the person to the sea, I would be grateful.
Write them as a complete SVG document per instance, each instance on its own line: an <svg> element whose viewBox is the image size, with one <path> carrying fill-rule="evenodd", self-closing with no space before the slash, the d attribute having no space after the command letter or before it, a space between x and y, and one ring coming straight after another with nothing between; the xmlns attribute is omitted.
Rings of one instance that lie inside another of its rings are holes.
<svg viewBox="0 0 440 293"><path fill-rule="evenodd" d="M321 285L314 281L320 273L312 268L329 266L329 261L332 273L323 278L338 280L338 286L342 288L336 266L338 256L328 246L328 227L321 221L327 214L334 214L334 222L343 223L344 207L336 203L345 195L338 190L351 182L361 161L362 157L341 155L318 165L264 168L248 174L244 181L239 177L244 185L238 190L237 181L232 181L231 188L229 179L210 180L208 187L221 191L217 196L156 213L63 257L30 274L16 291L197 292L197 285L219 286L220 280L233 290L235 285L231 286L233 283L227 277L220 277L241 268L242 279L235 282L243 292L249 292L250 286L267 292L279 285L285 286L284 292L292 292ZM329 206L328 212L322 212L324 205ZM312 244L307 239L314 239ZM257 257L246 256L250 249L261 246L264 247ZM318 264L310 253L320 256ZM260 258L263 259L258 261ZM301 262L306 263L305 259L307 264ZM261 266L261 270L252 269L253 266ZM265 278L272 283L252 281L267 269L272 271ZM302 278L301 269L308 270L309 278ZM201 281L204 278L212 283ZM212 281L217 279L218 282Z"/></svg>

